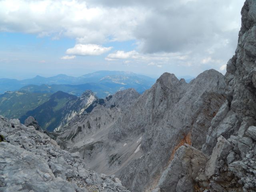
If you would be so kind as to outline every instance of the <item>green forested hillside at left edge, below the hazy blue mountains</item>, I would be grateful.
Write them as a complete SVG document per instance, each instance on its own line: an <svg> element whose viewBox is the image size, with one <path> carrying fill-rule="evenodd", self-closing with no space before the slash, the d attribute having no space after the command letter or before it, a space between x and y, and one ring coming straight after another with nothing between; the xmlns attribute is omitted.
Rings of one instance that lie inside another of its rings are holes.
<svg viewBox="0 0 256 192"><path fill-rule="evenodd" d="M32 93L26 91L5 92L0 95L0 115L6 118L20 118L29 110L50 99L51 93Z"/></svg>

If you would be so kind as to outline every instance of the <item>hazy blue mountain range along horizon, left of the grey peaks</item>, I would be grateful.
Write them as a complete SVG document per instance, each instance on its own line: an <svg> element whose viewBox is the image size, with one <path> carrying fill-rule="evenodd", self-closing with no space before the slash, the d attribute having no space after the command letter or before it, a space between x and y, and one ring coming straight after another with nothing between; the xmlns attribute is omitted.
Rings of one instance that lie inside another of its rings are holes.
<svg viewBox="0 0 256 192"><path fill-rule="evenodd" d="M63 91L81 95L85 90L92 90L99 98L114 94L118 90L135 88L142 93L154 84L155 79L148 76L123 71L97 71L80 77L60 74L53 77L36 76L31 79L0 79L0 93L22 88L29 92ZM32 86L33 85L33 86Z"/></svg>

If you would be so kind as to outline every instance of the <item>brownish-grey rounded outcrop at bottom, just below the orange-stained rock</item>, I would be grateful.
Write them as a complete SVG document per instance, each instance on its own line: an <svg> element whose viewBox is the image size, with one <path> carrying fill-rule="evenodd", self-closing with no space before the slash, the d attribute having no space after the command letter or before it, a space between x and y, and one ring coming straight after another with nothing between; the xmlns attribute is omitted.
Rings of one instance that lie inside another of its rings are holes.
<svg viewBox="0 0 256 192"><path fill-rule="evenodd" d="M199 180L198 178L207 180L204 173L200 172L200 168L205 167L206 161L207 156L199 150L186 144L181 146L158 182L160 191L193 192L195 180Z"/></svg>

